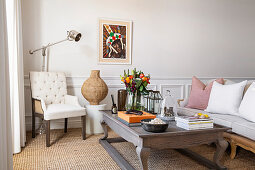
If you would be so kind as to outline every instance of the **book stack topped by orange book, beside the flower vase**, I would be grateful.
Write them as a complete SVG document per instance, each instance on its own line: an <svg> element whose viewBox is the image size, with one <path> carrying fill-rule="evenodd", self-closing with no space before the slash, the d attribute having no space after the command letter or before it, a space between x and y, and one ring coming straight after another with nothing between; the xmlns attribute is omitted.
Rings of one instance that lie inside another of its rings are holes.
<svg viewBox="0 0 255 170"><path fill-rule="evenodd" d="M156 115L143 112L142 115L126 114L126 111L118 112L118 120L127 126L139 126L143 119L154 119Z"/></svg>

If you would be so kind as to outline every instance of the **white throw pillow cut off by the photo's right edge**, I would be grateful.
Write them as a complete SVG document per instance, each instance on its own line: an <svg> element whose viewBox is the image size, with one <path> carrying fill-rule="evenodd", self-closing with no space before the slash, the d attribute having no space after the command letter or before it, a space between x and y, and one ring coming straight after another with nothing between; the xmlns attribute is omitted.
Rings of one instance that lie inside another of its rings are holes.
<svg viewBox="0 0 255 170"><path fill-rule="evenodd" d="M241 117L255 122L255 82L246 91L240 104L239 114Z"/></svg>

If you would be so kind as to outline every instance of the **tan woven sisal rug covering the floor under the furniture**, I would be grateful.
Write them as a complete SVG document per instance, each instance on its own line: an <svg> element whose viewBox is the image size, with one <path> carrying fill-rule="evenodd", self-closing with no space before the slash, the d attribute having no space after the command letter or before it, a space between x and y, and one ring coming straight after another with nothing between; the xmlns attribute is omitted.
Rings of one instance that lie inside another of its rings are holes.
<svg viewBox="0 0 255 170"><path fill-rule="evenodd" d="M51 147L45 146L45 135L37 135L31 138L27 135L27 144L22 152L15 154L13 167L15 170L24 169L85 169L85 170L115 170L120 169L113 159L108 155L98 140L102 135L87 136L81 140L81 129L68 129L66 134L63 130L51 131ZM117 137L110 131L109 137ZM113 146L127 159L133 167L141 169L131 143L115 143ZM212 159L215 147L213 145L202 145L193 147L191 150ZM229 158L227 151L222 159L224 165L229 169L255 169L255 154L239 149L234 160ZM182 155L175 150L152 151L149 157L150 170L190 170L207 169L198 162Z"/></svg>

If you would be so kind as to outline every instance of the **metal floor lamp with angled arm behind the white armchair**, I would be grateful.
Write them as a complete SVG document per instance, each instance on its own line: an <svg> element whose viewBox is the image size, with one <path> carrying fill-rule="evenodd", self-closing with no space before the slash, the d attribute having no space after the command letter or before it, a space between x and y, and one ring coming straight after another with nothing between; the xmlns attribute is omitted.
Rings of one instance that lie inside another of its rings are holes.
<svg viewBox="0 0 255 170"><path fill-rule="evenodd" d="M42 50L42 56L43 57L42 57L42 70L41 71L48 71L47 59L46 59L46 50L47 50L47 48L50 47L50 46L59 44L61 42L67 41L67 40L78 42L80 39L81 39L81 33L77 32L75 30L67 31L67 37L64 40L61 40L61 41L58 41L58 42L55 42L55 43L50 43L46 46L42 46L41 48L38 48L38 49L35 49L35 50L29 50L29 54L34 54L34 52Z"/></svg>

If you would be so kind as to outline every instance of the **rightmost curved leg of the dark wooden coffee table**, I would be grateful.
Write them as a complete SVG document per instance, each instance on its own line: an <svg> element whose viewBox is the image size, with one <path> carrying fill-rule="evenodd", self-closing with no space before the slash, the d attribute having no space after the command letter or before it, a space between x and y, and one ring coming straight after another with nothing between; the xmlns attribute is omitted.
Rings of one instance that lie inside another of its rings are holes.
<svg viewBox="0 0 255 170"><path fill-rule="evenodd" d="M224 152L228 147L228 142L224 139L218 139L216 142L216 146L217 149L213 157L213 162L215 162L220 169L227 169L220 163L220 159L222 158Z"/></svg>

